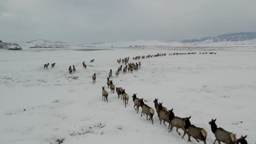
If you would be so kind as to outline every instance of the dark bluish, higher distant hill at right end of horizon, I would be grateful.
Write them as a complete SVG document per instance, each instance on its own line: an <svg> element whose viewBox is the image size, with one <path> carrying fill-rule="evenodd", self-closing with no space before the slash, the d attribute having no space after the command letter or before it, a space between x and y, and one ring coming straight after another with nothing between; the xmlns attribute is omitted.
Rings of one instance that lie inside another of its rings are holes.
<svg viewBox="0 0 256 144"><path fill-rule="evenodd" d="M195 43L195 42L207 42L216 43L220 41L244 41L256 39L256 32L243 32L243 33L229 33L218 35L217 37L205 37L201 39L187 39L182 40L182 43Z"/></svg>

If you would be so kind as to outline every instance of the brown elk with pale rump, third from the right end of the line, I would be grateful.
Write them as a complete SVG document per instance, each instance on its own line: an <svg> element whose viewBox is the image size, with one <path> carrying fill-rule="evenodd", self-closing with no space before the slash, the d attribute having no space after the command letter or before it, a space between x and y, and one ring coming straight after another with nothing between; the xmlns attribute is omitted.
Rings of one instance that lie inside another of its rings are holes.
<svg viewBox="0 0 256 144"><path fill-rule="evenodd" d="M192 136L197 142L200 140L206 144L207 131L205 129L191 125L189 118L185 121L185 127L188 130L188 142L191 141L190 136Z"/></svg>

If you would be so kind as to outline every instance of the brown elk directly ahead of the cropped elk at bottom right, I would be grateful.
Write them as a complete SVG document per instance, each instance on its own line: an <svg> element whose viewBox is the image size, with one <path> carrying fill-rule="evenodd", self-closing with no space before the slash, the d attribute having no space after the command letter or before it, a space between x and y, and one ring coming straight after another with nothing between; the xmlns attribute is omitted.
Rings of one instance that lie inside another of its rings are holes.
<svg viewBox="0 0 256 144"><path fill-rule="evenodd" d="M236 143L236 134L230 133L229 131L224 130L223 128L217 128L216 119L212 119L209 124L211 125L212 133L215 135L216 141L220 144L220 142L226 144ZM214 144L213 143L213 144Z"/></svg>

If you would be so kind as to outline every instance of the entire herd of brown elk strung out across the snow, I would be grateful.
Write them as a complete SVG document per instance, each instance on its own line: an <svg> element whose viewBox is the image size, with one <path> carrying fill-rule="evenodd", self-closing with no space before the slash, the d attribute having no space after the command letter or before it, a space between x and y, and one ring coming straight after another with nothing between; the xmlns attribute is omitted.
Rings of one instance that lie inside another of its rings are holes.
<svg viewBox="0 0 256 144"><path fill-rule="evenodd" d="M169 55L195 55L196 52L187 52L187 53L170 53ZM199 54L205 55L207 52L199 52ZM209 52L209 54L216 54L216 52ZM152 57L160 57L160 56L166 56L166 53L157 53L156 55L147 55L147 56L136 56L133 57L132 59L139 60L139 59L144 59L144 58L152 58ZM133 71L137 71L139 68L141 68L141 62L130 62L129 63L129 57L126 58L119 58L117 59L118 64L123 63L123 65L120 65L118 67L117 71L115 71L115 77L118 77L120 72L123 71L123 74L126 73L133 73ZM94 59L92 59L90 62L94 62ZM86 64L85 62L82 63L83 68L86 69ZM44 64L44 69L48 69L48 64ZM52 68L54 68L55 63L51 64ZM75 73L75 67L73 65L73 69L71 66L69 66L69 74ZM127 104L129 102L129 94L125 92L125 89L123 87L115 87L113 84L113 80L110 80L112 76L112 69L110 69L107 77L107 86L110 89L111 93L117 93L118 99L123 99L123 103L125 107L127 107ZM96 73L92 76L92 82L96 82ZM105 89L105 86L102 87L102 100L107 101L108 103L108 92ZM167 109L162 105L162 103L158 102L158 99L155 99L153 101L154 103L154 108L150 107L149 105L144 103L143 98L138 98L137 94L132 95L132 101L133 101L133 108L135 109L136 113L139 112L139 107L141 107L141 117L143 115L146 115L146 118L148 121L151 121L152 124L153 122L153 116L155 114L155 111L157 113L157 116L159 118L160 124L164 123L166 125L166 122L168 123L168 132L170 133L172 129L175 127L178 135L181 135L179 133L179 129L183 130L183 135L182 138L187 134L188 135L188 142L191 141L191 137L193 137L197 142L202 141L204 144L206 144L206 139L208 136L208 133L205 129L197 127L196 125L191 124L190 119L191 116L189 117L178 117L174 115L174 110L173 109ZM226 143L226 144L247 144L247 141L245 140L246 136L241 136L240 139L236 139L236 134L231 133L229 131L226 131L225 129L221 127L217 127L216 124L216 119L211 119L210 122L208 122L211 127L212 133L215 135L216 139L214 143L217 141L219 144L220 142Z"/></svg>

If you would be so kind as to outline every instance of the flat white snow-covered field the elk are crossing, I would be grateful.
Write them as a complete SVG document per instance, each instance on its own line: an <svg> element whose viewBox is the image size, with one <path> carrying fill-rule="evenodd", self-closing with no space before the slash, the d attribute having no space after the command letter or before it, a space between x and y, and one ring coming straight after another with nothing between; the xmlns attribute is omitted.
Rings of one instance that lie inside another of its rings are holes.
<svg viewBox="0 0 256 144"><path fill-rule="evenodd" d="M120 66L118 58L167 53L164 57L141 59L142 67L132 74L112 77L116 87L130 95L125 108L117 93L101 98L109 69ZM0 51L0 143L188 143L175 130L154 124L133 109L132 94L154 107L159 98L176 116L214 134L208 122L237 135L256 135L256 52L217 51L216 55L169 56L173 50L113 49L75 51L28 49ZM180 52L180 51L178 51ZM90 59L95 59L90 63ZM88 64L83 69L82 62ZM55 68L43 69L45 63ZM68 73L75 65L77 73ZM96 73L96 83L91 76ZM181 131L181 130L180 130ZM182 132L182 131L181 131ZM191 143L197 143L191 139ZM202 143L202 142L200 142Z"/></svg>

